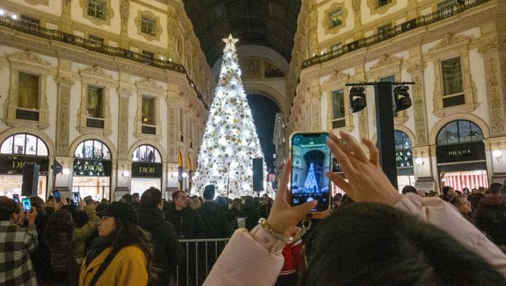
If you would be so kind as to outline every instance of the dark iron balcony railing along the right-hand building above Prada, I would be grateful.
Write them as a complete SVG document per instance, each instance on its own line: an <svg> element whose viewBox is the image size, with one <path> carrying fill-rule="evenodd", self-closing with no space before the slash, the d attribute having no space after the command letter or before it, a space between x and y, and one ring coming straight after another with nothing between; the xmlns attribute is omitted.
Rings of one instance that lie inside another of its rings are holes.
<svg viewBox="0 0 506 286"><path fill-rule="evenodd" d="M431 23L450 18L456 14L460 14L465 10L468 10L470 8L473 8L477 5L480 5L488 1L492 0L464 0L463 3L455 3L454 5L448 5L447 7L438 10L436 12L432 12L430 14L417 17L410 21L406 21L404 23L396 25L390 29L384 30L383 32L380 32L378 34L374 34L372 36L368 36L367 38L362 38L347 45L343 45L342 47L339 47L337 50L333 50L328 54L308 58L307 60L302 62L301 68L306 69L307 67L311 67L319 63L324 63L326 61L333 60L334 58L339 58L339 56L358 50L361 47L368 47L370 45L375 45L382 41L391 39L394 36L397 36L404 32L408 32L409 30L413 30L414 28L419 28L424 25L429 25Z"/></svg>

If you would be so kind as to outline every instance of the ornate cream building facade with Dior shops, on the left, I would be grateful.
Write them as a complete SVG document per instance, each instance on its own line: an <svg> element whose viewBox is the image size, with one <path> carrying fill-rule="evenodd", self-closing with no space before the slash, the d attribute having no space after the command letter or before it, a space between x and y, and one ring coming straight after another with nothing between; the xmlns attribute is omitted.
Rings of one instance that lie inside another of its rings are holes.
<svg viewBox="0 0 506 286"><path fill-rule="evenodd" d="M181 1L0 1L0 83L0 195L32 163L44 198L189 188L214 83Z"/></svg>

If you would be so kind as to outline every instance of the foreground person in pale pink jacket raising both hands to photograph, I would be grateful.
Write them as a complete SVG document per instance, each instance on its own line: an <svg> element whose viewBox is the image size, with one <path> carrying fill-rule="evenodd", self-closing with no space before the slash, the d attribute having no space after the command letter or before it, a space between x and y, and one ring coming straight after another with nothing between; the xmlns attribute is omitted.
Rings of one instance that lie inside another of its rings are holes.
<svg viewBox="0 0 506 286"><path fill-rule="evenodd" d="M453 206L436 197L399 194L372 142L362 140L368 158L352 136L339 135L345 144L333 133L327 144L347 181L327 175L357 204L330 217L312 214L328 218L305 238L307 269L300 285L506 285L506 255ZM274 285L283 265L280 237L289 236L316 204L290 206L290 170L288 160L266 222L251 232L235 231L204 285Z"/></svg>

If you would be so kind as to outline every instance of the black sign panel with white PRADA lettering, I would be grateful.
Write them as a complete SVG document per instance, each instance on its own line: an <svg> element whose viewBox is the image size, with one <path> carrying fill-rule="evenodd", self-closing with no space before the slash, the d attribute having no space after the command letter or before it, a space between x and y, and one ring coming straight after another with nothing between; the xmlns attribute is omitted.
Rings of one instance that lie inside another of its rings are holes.
<svg viewBox="0 0 506 286"><path fill-rule="evenodd" d="M485 144L480 141L436 146L436 154L438 164L484 160Z"/></svg>

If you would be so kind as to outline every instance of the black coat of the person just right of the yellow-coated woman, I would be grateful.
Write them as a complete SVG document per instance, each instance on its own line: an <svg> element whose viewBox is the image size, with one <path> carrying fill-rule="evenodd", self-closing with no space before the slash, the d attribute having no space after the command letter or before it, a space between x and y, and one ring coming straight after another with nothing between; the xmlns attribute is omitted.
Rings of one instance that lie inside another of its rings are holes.
<svg viewBox="0 0 506 286"><path fill-rule="evenodd" d="M140 206L137 213L139 226L151 234L155 246L153 263L160 269L156 285L169 285L171 267L182 265L185 261L185 253L178 241L178 234L172 223L165 221L164 214L159 208Z"/></svg>

